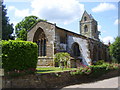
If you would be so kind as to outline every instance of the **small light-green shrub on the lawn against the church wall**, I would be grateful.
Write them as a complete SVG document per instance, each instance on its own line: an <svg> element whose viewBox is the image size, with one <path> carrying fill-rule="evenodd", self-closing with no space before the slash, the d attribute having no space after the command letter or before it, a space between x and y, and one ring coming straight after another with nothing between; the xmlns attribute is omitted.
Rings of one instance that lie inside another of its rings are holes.
<svg viewBox="0 0 120 90"><path fill-rule="evenodd" d="M68 67L69 60L70 60L70 54L64 52L56 53L54 57L54 62L58 63L58 66Z"/></svg>

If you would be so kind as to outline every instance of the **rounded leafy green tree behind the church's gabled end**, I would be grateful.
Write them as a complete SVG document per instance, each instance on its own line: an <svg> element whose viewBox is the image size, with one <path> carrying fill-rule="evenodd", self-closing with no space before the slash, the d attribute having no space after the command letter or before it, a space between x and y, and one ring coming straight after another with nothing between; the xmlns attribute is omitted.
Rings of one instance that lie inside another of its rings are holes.
<svg viewBox="0 0 120 90"><path fill-rule="evenodd" d="M37 22L39 22L42 19L39 19L36 16L27 16L25 17L21 22L17 23L15 26L15 32L19 39L21 40L27 40L27 31L35 25ZM46 20L43 20L46 21Z"/></svg>

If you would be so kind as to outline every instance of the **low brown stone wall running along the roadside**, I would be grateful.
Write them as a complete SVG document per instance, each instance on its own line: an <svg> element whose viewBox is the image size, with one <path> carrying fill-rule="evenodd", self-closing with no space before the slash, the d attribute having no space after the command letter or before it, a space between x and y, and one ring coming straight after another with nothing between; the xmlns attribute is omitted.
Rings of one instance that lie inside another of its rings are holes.
<svg viewBox="0 0 120 90"><path fill-rule="evenodd" d="M48 74L35 74L20 77L2 77L3 88L62 88L66 85L92 82L104 78L118 76L118 70L111 71L98 79L88 75L71 76L69 71Z"/></svg>

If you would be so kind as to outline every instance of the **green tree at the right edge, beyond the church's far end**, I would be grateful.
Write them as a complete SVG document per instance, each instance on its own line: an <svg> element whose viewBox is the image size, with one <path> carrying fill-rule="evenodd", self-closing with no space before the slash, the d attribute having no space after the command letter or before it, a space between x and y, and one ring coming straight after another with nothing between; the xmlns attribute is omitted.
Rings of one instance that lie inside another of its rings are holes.
<svg viewBox="0 0 120 90"><path fill-rule="evenodd" d="M120 63L120 37L117 37L110 45L110 54Z"/></svg>

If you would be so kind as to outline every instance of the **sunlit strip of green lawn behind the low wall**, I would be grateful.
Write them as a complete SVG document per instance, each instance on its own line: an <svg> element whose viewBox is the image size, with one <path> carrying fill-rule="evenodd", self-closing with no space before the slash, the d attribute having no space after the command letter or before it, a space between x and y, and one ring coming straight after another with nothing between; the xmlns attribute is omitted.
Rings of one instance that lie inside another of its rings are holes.
<svg viewBox="0 0 120 90"><path fill-rule="evenodd" d="M63 71L70 71L70 70L76 70L76 68L62 68L59 67L40 67L36 68L37 73L52 73L52 72L63 72Z"/></svg>

